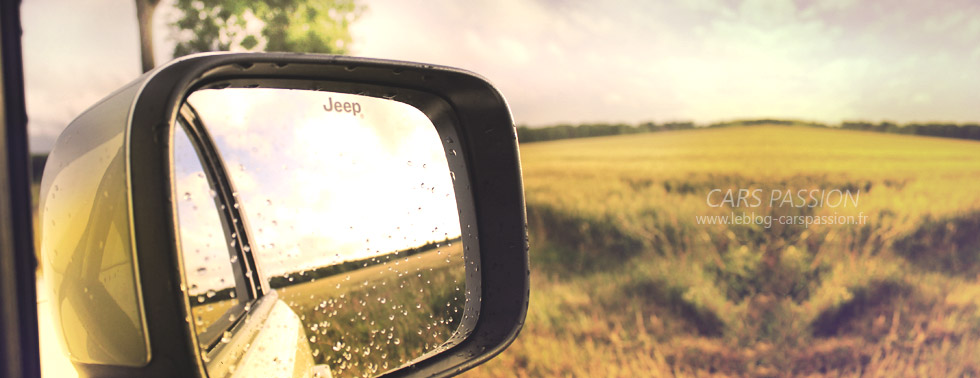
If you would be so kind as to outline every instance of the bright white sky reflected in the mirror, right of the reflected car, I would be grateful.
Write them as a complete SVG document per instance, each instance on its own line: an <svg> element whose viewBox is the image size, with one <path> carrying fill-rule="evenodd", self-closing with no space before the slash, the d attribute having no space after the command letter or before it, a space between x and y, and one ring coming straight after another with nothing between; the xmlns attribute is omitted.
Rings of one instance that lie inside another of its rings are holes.
<svg viewBox="0 0 980 378"><path fill-rule="evenodd" d="M188 102L218 145L267 275L460 235L445 151L414 107L285 89L204 90Z"/></svg>

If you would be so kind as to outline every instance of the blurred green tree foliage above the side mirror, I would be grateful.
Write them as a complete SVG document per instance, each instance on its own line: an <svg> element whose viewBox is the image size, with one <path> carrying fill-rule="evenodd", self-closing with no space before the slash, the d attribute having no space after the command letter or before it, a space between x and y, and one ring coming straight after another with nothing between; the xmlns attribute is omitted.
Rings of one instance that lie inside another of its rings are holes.
<svg viewBox="0 0 980 378"><path fill-rule="evenodd" d="M356 0L178 0L174 57L205 51L344 54L363 12Z"/></svg>

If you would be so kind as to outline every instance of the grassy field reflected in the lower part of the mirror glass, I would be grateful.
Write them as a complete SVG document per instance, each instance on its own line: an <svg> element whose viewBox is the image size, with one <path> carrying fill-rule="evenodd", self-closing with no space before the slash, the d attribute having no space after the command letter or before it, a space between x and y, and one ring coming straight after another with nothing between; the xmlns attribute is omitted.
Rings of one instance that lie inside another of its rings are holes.
<svg viewBox="0 0 980 378"><path fill-rule="evenodd" d="M452 336L465 282L462 243L453 243L278 290L305 325L316 363L334 377L372 377Z"/></svg>

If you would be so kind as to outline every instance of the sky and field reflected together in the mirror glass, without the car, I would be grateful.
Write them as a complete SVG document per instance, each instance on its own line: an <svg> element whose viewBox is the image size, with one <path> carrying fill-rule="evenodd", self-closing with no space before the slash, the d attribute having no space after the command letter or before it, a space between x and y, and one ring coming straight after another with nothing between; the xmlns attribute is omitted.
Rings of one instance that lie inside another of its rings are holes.
<svg viewBox="0 0 980 378"><path fill-rule="evenodd" d="M466 297L460 221L446 150L423 113L262 88L201 90L187 104L237 190L243 249L302 321L315 363L374 376L453 335Z"/></svg>

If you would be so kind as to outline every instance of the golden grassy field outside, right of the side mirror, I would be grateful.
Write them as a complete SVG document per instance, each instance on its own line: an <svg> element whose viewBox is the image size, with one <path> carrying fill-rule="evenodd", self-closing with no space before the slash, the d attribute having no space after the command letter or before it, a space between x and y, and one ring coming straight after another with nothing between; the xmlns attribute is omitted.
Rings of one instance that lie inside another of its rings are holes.
<svg viewBox="0 0 980 378"><path fill-rule="evenodd" d="M753 126L521 154L527 325L468 377L980 375L980 142ZM739 188L860 197L706 203ZM732 212L867 218L696 221Z"/></svg>

